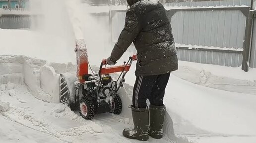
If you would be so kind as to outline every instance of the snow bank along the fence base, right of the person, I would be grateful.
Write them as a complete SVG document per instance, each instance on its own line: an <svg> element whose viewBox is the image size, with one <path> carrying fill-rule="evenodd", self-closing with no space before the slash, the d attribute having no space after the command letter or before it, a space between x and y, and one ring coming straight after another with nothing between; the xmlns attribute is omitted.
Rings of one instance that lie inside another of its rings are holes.
<svg viewBox="0 0 256 143"><path fill-rule="evenodd" d="M225 71L225 72L223 72ZM195 84L240 93L256 94L256 69L231 68L179 61L174 75Z"/></svg>

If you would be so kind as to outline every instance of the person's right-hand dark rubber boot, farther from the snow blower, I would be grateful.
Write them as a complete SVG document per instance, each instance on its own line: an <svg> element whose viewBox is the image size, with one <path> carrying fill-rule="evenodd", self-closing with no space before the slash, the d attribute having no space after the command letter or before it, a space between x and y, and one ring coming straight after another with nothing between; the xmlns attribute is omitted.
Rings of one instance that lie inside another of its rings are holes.
<svg viewBox="0 0 256 143"><path fill-rule="evenodd" d="M154 139L163 138L163 123L165 116L166 108L165 106L154 106L149 105L150 112L150 127L149 127L149 136Z"/></svg>

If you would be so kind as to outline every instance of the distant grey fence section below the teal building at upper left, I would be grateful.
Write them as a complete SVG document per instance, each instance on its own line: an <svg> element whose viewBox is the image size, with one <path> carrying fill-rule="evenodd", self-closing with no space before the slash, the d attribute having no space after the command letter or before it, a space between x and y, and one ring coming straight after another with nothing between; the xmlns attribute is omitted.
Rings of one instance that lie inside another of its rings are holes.
<svg viewBox="0 0 256 143"><path fill-rule="evenodd" d="M31 26L29 15L1 15L1 29L28 29Z"/></svg>

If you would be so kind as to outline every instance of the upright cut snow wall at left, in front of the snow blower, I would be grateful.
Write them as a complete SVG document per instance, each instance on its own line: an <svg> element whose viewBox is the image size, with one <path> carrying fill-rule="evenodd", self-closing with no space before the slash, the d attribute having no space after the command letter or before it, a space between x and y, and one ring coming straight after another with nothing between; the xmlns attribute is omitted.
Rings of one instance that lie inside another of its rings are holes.
<svg viewBox="0 0 256 143"><path fill-rule="evenodd" d="M70 85L75 80L75 66L71 63L47 63L26 56L0 55L0 84L26 84L36 98L47 102L59 103L60 73L67 76Z"/></svg>

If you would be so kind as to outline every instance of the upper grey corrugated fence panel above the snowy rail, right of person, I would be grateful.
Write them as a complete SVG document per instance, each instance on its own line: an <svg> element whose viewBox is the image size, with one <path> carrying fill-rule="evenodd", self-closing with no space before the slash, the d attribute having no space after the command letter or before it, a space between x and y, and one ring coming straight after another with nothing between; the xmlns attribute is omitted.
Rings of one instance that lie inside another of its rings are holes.
<svg viewBox="0 0 256 143"><path fill-rule="evenodd" d="M246 16L240 10L178 11L170 19L177 43L243 48Z"/></svg>

